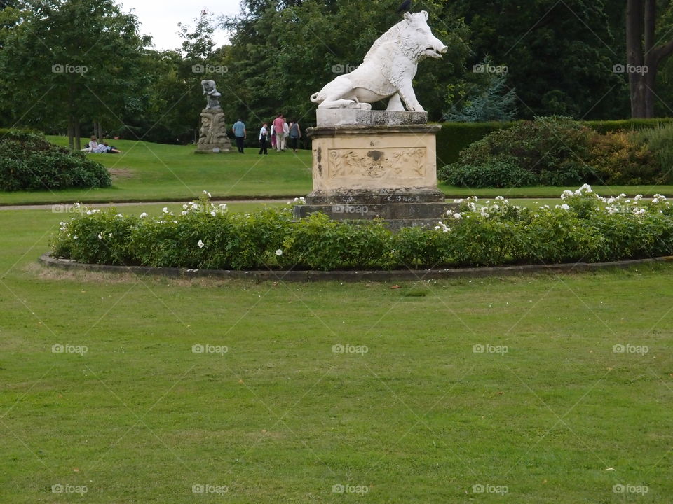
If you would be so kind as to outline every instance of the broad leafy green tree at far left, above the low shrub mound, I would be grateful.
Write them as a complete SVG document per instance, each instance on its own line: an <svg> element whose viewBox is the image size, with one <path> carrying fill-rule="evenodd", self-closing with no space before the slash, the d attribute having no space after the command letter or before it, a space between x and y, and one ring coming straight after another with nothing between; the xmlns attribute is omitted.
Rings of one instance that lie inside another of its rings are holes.
<svg viewBox="0 0 673 504"><path fill-rule="evenodd" d="M79 148L83 121L118 123L132 108L149 38L113 0L28 0L19 8L0 59L1 97L25 125L67 125L71 148Z"/></svg>

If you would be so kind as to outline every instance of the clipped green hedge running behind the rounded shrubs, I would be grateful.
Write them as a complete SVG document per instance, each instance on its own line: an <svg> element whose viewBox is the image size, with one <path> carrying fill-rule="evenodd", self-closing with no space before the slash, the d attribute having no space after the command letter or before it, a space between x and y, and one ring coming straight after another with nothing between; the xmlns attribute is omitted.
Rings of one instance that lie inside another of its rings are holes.
<svg viewBox="0 0 673 504"><path fill-rule="evenodd" d="M437 132L437 167L450 165L458 161L458 154L467 146L486 137L496 130L509 128L517 123L441 123L442 130ZM660 119L623 119L623 120L591 120L583 121L599 133L617 130L644 130L673 123L673 118Z"/></svg>

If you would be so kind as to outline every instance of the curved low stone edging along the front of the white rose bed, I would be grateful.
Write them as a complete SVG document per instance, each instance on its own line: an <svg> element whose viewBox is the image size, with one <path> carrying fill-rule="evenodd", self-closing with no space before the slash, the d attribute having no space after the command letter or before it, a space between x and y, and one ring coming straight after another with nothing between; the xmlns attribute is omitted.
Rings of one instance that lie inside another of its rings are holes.
<svg viewBox="0 0 673 504"><path fill-rule="evenodd" d="M498 266L476 268L449 268L449 269L407 269L393 271L315 271L315 270L268 270L268 271L239 271L226 269L188 269L173 267L151 266L113 266L84 264L70 259L56 259L50 253L44 253L40 262L48 267L61 269L79 269L88 272L116 272L132 274L154 274L158 276L182 278L220 278L220 279L252 279L256 281L399 281L399 280L442 280L461 277L484 276L522 276L531 273L573 273L596 271L609 268L628 268L656 262L671 262L673 256L651 259L623 260L616 262L576 262L558 265L523 265Z"/></svg>

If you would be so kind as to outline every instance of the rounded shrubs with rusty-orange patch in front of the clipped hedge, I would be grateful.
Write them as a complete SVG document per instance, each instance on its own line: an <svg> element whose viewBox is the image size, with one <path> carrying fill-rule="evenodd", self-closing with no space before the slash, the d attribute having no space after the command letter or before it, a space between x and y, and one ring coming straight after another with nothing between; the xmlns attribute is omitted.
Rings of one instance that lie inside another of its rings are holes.
<svg viewBox="0 0 673 504"><path fill-rule="evenodd" d="M668 183L673 127L607 132L552 116L498 130L438 170L452 186L571 186Z"/></svg>

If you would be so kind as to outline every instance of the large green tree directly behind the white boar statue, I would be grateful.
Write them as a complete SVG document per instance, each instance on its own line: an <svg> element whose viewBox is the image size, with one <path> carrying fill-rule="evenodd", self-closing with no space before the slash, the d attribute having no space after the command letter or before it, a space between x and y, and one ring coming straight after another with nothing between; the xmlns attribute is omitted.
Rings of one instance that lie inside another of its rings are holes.
<svg viewBox="0 0 673 504"><path fill-rule="evenodd" d="M447 87L463 77L469 52L465 25L447 17L445 5L423 2L435 36L449 52L421 62L414 81L416 96L433 120L447 106ZM223 23L232 33L227 82L233 103L227 113L256 122L283 112L313 123L315 104L308 97L358 66L376 38L401 20L389 0L245 0L243 6L243 13ZM358 20L357 29L348 20Z"/></svg>

